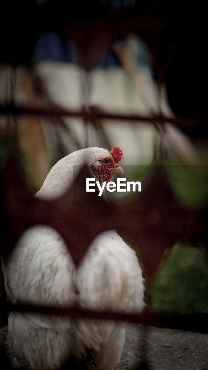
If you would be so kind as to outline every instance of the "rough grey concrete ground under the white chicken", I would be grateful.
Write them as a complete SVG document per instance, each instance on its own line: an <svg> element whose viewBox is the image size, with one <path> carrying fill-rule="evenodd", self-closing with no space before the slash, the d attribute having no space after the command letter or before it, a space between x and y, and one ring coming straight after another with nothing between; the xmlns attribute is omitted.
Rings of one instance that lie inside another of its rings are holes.
<svg viewBox="0 0 208 370"><path fill-rule="evenodd" d="M145 340L146 338L146 340ZM0 368L6 328L0 329ZM129 324L121 361L114 370L207 370L208 334Z"/></svg>

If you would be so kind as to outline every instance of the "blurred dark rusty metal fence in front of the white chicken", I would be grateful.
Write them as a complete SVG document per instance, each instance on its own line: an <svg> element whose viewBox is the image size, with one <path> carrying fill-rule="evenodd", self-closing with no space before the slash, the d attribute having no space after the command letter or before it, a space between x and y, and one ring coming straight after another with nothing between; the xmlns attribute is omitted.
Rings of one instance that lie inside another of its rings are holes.
<svg viewBox="0 0 208 370"><path fill-rule="evenodd" d="M12 4L14 6L13 2ZM54 7L54 4L56 7ZM85 3L83 4L85 5ZM21 2L18 6L20 8L25 6L25 2ZM58 13L56 1L49 1L43 6L37 6L33 2L28 2L27 7L29 7L29 10L31 10L31 7L35 10L34 14L30 14L30 21L33 27L28 26L28 32L23 33L23 28L26 24L28 25L28 19L26 17L20 21L18 18L20 29L17 32L18 35L12 33L14 37L11 39L11 44L14 44L17 42L17 37L21 34L21 37L23 37L23 50L20 47L15 47L15 53L11 53L11 46L8 47L6 42L4 42L4 53L1 60L3 63L11 64L13 67L31 58L30 40L36 40L43 30L52 28L53 30L56 29L56 31L61 30L63 32L64 29L65 36L73 38L79 51L82 65L88 70L93 67L97 60L98 41L103 41L101 43L103 47L105 43L112 40L115 36L134 32L142 36L144 34L145 40L149 40L148 46L152 51L160 85L160 81L167 73L175 51L175 41L172 40L171 36L176 30L177 33L184 30L182 22L175 24L174 19L169 19L164 11L160 11L159 14L155 15L152 3L148 3L148 6L142 8L136 2L134 7L130 7L125 11L124 9L112 10L103 8L103 6L95 4L92 10L88 6L77 7L76 2L73 2L73 6L70 6L65 1L62 1L61 4L59 3ZM64 14L66 14L66 10L69 7L70 17L66 17ZM48 12L51 14L51 17L46 16ZM168 14L170 16L169 11ZM38 26L34 23L37 19L39 20ZM204 24L201 26L206 27ZM82 32L78 32L80 28L82 28ZM96 32L94 32L95 28ZM85 37L83 36L85 33L83 30L86 31ZM146 36L145 32L147 31L149 33ZM169 38L164 39L164 32L168 33ZM7 36L8 40L10 40L9 33ZM163 46L169 46L167 53L161 54L160 50L157 50L157 45L154 45L155 39L157 40L156 44L159 44L160 47L162 47L162 43L165 43ZM17 45L19 44L17 43ZM13 99L7 104L0 105L0 114L6 115L13 122L13 144L16 143L17 139L15 127L18 125L18 117L24 115L30 117L57 117L60 120L64 116L80 117L84 122L91 121L94 125L101 120L131 123L142 121L146 122L146 124L159 123L162 127L171 122L181 129L192 129L192 132L201 129L207 135L206 117L199 117L198 119L172 118L166 117L162 113L153 117L135 114L107 114L94 111L93 107L83 108L80 111L64 110L59 107L52 109L34 108L18 105ZM168 246L172 246L181 240L190 240L191 242L201 243L206 249L208 248L208 206L204 205L194 209L181 205L175 199L172 189L168 185L167 175L162 165L158 165L157 169L152 172L141 196L138 196L130 204L120 205L119 207L113 204L106 204L94 193L86 194L84 186L88 172L87 168L85 168L73 186L73 200L75 203L77 201L78 203L76 204L78 205L71 207L72 189L69 189L62 198L53 201L34 198L28 190L20 162L18 151L15 149L15 145L13 145L10 158L1 171L1 254L4 260L7 260L11 251L15 248L17 240L27 228L42 224L51 226L60 233L76 265L83 258L88 245L95 236L102 231L112 229L113 225L113 228L118 232L125 232L139 246L140 258L147 274L147 280L157 268ZM83 194L82 199L80 199L80 194ZM100 207L102 207L102 213L98 212ZM87 218L85 217L86 214L88 215ZM69 228L68 225L72 223L73 227ZM94 225L93 229L90 227L92 223ZM81 229L80 225L82 225ZM79 235L79 248L77 248L77 235ZM142 314L129 314L86 310L78 306L57 308L27 305L26 303L17 306L6 303L4 299L1 299L0 307L1 315L11 310L18 312L42 312L68 315L72 319L84 317L124 320L144 326L208 333L208 317L206 314L164 315L148 312L148 308ZM144 342L146 340L145 333L143 340ZM3 358L4 354L1 353L1 356ZM7 357L4 358L4 361L6 363ZM70 361L71 366L74 368L78 366L74 359L70 359ZM142 361L138 368L148 369L147 359ZM5 368L9 369L9 363L7 363L7 366Z"/></svg>

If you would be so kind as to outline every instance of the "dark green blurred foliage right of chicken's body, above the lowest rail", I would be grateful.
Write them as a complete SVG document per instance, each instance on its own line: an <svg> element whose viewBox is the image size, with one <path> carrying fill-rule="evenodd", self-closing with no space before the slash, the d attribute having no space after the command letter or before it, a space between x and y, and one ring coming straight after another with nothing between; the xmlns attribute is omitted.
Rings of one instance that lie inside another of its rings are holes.
<svg viewBox="0 0 208 370"><path fill-rule="evenodd" d="M181 243L173 246L154 276L151 309L166 313L208 313L206 252Z"/></svg>

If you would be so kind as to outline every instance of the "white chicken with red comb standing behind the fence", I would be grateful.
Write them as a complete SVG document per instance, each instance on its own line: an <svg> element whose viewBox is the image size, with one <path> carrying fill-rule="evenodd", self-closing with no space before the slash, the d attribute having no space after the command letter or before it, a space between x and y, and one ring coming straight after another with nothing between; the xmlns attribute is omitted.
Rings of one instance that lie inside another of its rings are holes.
<svg viewBox="0 0 208 370"><path fill-rule="evenodd" d="M72 183L73 165L86 163L96 181L110 181L119 165L120 148L111 152L86 148L58 161L38 198L54 199ZM75 166L78 171L79 166ZM77 244L79 237L77 236ZM91 243L78 270L61 236L48 226L28 229L3 273L9 302L141 312L144 284L138 259L116 231L105 231ZM59 369L70 354L86 369L113 369L124 344L123 322L10 312L8 334L13 356L25 369Z"/></svg>

